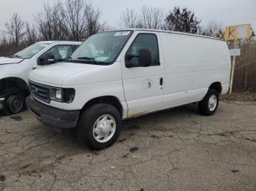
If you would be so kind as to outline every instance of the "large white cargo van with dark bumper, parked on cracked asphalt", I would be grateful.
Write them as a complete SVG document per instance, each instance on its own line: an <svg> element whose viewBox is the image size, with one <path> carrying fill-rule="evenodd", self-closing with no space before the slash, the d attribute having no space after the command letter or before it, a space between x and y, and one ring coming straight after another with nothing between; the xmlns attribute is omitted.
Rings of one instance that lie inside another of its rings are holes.
<svg viewBox="0 0 256 191"><path fill-rule="evenodd" d="M65 63L31 71L26 103L43 123L77 128L92 149L113 144L121 120L198 103L216 112L230 82L225 41L131 29L91 36Z"/></svg>

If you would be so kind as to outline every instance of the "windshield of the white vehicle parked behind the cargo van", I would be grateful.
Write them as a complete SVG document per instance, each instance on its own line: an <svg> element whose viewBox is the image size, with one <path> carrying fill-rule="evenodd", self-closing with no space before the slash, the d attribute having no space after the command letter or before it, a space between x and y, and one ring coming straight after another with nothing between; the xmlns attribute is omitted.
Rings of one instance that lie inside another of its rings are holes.
<svg viewBox="0 0 256 191"><path fill-rule="evenodd" d="M32 58L34 55L37 54L37 52L43 50L45 47L48 47L49 44L47 43L36 43L32 44L29 47L26 47L25 49L21 50L20 52L17 52L13 57L17 58L23 58L23 59L29 59Z"/></svg>

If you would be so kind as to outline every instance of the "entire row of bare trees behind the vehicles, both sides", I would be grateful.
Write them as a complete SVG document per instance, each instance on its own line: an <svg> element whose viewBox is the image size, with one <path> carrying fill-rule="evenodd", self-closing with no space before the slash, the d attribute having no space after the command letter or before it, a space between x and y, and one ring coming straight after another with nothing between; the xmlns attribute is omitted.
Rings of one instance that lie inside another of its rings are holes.
<svg viewBox="0 0 256 191"><path fill-rule="evenodd" d="M38 41L71 40L80 41L100 31L111 28L101 21L102 12L91 1L65 0L42 5L41 12L34 15L34 22L21 20L14 13L1 31L1 47L26 47ZM153 28L203 34L223 38L223 26L211 22L201 26L201 20L192 10L181 7L170 9L167 15L159 7L144 5L139 12L133 8L124 9L118 24L122 28Z"/></svg>

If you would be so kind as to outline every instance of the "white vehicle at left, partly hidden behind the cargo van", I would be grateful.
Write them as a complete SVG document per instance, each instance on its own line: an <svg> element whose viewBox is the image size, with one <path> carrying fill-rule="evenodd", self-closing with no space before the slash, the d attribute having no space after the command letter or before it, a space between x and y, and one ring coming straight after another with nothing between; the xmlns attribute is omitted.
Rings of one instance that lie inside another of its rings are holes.
<svg viewBox="0 0 256 191"><path fill-rule="evenodd" d="M25 109L25 97L29 95L29 72L38 66L67 59L80 44L37 42L11 57L0 57L0 113L17 114Z"/></svg>

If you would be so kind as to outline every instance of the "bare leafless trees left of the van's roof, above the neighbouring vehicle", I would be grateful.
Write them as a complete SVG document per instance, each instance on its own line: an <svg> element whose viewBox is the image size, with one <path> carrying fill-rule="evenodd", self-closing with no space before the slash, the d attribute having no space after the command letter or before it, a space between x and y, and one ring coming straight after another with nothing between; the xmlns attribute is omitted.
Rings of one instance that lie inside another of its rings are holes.
<svg viewBox="0 0 256 191"><path fill-rule="evenodd" d="M66 0L42 5L41 12L34 15L34 22L21 20L14 13L1 31L0 43L13 45L34 44L37 41L71 40L80 41L106 30L105 22L100 21L102 12L91 1Z"/></svg>

